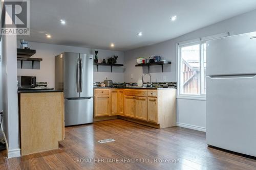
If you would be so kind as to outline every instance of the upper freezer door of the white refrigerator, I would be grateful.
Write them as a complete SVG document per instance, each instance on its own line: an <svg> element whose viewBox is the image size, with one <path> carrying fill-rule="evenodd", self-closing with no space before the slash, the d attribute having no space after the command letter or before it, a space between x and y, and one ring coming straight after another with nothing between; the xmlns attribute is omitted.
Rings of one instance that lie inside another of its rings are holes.
<svg viewBox="0 0 256 170"><path fill-rule="evenodd" d="M256 73L256 32L206 42L206 74Z"/></svg>

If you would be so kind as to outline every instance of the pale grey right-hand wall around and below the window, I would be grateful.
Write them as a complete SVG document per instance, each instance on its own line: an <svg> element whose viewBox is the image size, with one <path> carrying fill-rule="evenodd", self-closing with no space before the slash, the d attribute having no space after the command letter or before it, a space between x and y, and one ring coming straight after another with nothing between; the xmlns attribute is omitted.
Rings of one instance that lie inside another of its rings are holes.
<svg viewBox="0 0 256 170"><path fill-rule="evenodd" d="M166 81L177 81L176 43L229 31L232 31L234 35L256 31L256 10L221 21L172 40L124 52L124 81L137 82L138 78L142 76L143 70L141 67L135 67L136 58L151 55L160 55L163 59L172 61L170 68L168 68L169 66L165 67L164 73L159 73L161 70L160 66L154 66L153 69L151 69L153 81L163 81L163 76L166 76ZM133 74L134 79L131 79L131 74ZM177 99L177 123L179 126L204 131L206 127L206 102Z"/></svg>

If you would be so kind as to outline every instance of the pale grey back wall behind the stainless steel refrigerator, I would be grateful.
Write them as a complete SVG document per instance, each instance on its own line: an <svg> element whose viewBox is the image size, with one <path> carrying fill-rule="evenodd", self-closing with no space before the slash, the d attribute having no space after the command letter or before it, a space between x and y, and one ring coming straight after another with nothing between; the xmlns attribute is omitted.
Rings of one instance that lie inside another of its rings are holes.
<svg viewBox="0 0 256 170"><path fill-rule="evenodd" d="M17 46L19 47L19 40L17 40ZM76 52L94 54L95 49L74 47L65 45L46 44L38 42L29 42L29 47L36 50L36 54L33 58L42 58L40 62L40 69L18 69L17 74L20 76L36 76L37 82L48 82L48 87L54 88L54 57L62 52ZM103 58L107 59L118 56L117 63L123 64L123 52L111 51L111 50L99 50L98 62L101 62ZM103 82L105 77L113 82L123 82L123 67L113 67L113 72L110 72L109 66L99 66L96 72L96 66L94 66L94 82Z"/></svg>

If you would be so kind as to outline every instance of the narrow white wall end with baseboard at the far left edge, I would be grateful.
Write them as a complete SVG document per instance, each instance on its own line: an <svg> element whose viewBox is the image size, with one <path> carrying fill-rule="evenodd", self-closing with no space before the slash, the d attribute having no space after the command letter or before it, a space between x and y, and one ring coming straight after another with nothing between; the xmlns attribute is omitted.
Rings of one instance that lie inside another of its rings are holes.
<svg viewBox="0 0 256 170"><path fill-rule="evenodd" d="M8 143L8 157L20 155L18 147L18 96L16 36L2 37L3 129Z"/></svg>

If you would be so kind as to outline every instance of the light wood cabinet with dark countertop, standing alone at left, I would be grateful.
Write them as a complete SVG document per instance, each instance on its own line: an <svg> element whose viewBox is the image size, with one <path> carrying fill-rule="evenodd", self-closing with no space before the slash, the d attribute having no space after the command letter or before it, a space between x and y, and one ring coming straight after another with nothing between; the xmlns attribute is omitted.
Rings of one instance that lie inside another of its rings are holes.
<svg viewBox="0 0 256 170"><path fill-rule="evenodd" d="M65 132L63 92L20 90L18 101L21 154L57 149Z"/></svg>

